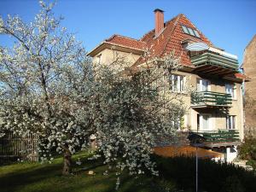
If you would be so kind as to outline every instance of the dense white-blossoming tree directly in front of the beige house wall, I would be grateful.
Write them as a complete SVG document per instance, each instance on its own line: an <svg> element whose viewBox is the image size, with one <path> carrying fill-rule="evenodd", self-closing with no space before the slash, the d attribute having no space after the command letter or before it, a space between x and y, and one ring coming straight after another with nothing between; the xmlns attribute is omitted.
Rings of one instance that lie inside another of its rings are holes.
<svg viewBox="0 0 256 192"><path fill-rule="evenodd" d="M131 67L117 56L110 64L114 67L108 63L96 70L101 82L94 108L98 150L117 175L124 170L158 175L150 159L153 147L175 142L176 122L186 111L181 94L170 90L179 59L173 53L153 59L149 54L143 56L143 67Z"/></svg>

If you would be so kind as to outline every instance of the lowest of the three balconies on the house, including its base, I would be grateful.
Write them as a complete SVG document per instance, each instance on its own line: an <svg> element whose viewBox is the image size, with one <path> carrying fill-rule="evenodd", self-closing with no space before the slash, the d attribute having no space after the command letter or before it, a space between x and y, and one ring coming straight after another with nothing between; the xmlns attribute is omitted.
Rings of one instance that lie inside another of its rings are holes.
<svg viewBox="0 0 256 192"><path fill-rule="evenodd" d="M201 137L201 147L227 147L239 145L239 131L237 130L218 130L218 131L191 131L189 134L199 135Z"/></svg>

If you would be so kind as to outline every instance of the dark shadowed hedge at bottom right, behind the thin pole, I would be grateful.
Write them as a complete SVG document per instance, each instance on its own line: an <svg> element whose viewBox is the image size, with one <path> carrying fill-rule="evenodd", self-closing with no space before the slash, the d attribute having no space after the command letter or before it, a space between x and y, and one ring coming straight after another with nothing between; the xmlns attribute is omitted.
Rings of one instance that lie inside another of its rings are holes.
<svg viewBox="0 0 256 192"><path fill-rule="evenodd" d="M177 184L177 189L195 191L195 158L154 156L154 159L157 162L160 178L172 179ZM216 192L226 189L225 192L254 192L256 189L256 177L253 172L248 172L242 167L216 163L212 160L199 160L198 170L199 191ZM230 187L234 183L237 190L232 190L233 188Z"/></svg>

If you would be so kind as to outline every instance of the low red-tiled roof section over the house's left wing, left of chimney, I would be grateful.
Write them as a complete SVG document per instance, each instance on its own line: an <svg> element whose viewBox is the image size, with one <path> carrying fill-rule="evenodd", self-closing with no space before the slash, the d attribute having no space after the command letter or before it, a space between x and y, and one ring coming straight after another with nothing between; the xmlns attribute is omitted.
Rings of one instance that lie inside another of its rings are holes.
<svg viewBox="0 0 256 192"><path fill-rule="evenodd" d="M134 38L128 38L121 35L113 35L111 38L106 39L106 42L112 43L112 44L119 44L125 47L133 48L133 49L145 49L146 43L137 40Z"/></svg>

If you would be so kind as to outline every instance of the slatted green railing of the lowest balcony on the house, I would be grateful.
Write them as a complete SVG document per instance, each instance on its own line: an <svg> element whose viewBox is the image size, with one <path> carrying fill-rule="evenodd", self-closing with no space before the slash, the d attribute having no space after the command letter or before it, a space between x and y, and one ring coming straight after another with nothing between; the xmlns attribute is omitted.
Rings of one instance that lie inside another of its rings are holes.
<svg viewBox="0 0 256 192"><path fill-rule="evenodd" d="M237 130L218 130L218 131L191 131L193 134L203 137L204 144L207 143L238 143L240 142L239 131Z"/></svg>

